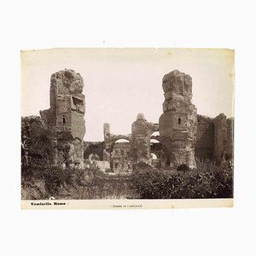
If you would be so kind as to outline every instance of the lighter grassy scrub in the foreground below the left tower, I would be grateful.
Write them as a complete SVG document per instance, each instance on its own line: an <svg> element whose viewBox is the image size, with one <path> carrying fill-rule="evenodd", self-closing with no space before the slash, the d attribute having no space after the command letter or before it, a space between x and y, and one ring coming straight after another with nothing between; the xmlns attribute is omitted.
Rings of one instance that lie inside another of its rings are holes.
<svg viewBox="0 0 256 256"><path fill-rule="evenodd" d="M21 172L21 199L119 199L129 193L127 176L94 169L30 166Z"/></svg>

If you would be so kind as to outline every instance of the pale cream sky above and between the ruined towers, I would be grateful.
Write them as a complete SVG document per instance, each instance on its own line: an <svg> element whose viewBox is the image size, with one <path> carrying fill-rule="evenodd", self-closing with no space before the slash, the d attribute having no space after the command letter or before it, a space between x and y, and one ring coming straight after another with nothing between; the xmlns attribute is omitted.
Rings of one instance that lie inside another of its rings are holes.
<svg viewBox="0 0 256 256"><path fill-rule="evenodd" d="M234 116L234 51L229 49L44 49L21 53L21 116L49 108L52 73L73 69L84 79L84 141L131 133L137 113L159 122L162 78L177 69L192 77L197 113Z"/></svg>

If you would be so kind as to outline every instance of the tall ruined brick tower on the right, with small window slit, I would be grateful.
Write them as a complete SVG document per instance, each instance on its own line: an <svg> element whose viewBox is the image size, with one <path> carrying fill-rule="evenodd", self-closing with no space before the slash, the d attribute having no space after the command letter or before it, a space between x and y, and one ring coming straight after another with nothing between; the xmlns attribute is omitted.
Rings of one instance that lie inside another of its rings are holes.
<svg viewBox="0 0 256 256"><path fill-rule="evenodd" d="M186 164L195 168L197 110L191 102L192 79L188 74L173 70L164 76L162 86L165 102L159 129L166 166Z"/></svg>

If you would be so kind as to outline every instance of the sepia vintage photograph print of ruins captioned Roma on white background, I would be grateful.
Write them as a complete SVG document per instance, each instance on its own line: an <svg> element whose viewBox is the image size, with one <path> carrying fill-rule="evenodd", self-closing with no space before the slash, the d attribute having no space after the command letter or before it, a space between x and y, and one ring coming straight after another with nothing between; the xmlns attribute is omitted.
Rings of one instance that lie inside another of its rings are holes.
<svg viewBox="0 0 256 256"><path fill-rule="evenodd" d="M21 50L22 208L231 200L234 59L232 49Z"/></svg>

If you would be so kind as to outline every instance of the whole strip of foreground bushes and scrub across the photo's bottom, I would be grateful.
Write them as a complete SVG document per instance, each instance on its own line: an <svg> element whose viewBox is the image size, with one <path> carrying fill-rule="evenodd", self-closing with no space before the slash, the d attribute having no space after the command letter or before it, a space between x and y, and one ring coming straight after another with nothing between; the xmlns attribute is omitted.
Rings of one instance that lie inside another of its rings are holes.
<svg viewBox="0 0 256 256"><path fill-rule="evenodd" d="M189 199L233 197L230 166L197 163L196 170L162 171L138 166L131 176L96 169L30 166L21 172L24 200L49 199Z"/></svg>

